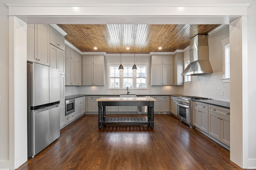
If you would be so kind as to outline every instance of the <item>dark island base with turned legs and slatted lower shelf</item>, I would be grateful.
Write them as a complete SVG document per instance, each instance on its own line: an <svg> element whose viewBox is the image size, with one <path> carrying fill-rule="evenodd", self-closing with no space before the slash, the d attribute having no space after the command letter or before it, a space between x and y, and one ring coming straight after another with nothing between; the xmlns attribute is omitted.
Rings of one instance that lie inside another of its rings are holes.
<svg viewBox="0 0 256 170"><path fill-rule="evenodd" d="M106 117L106 106L148 106L147 117ZM102 125L150 125L154 128L154 102L98 102L98 127Z"/></svg>

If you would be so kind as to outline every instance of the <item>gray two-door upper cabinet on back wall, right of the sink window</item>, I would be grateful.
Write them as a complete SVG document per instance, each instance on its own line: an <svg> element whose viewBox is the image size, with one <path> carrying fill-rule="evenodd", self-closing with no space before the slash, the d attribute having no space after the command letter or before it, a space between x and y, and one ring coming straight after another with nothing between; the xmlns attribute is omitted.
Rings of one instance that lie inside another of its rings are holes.
<svg viewBox="0 0 256 170"><path fill-rule="evenodd" d="M151 56L151 86L173 85L173 55Z"/></svg>

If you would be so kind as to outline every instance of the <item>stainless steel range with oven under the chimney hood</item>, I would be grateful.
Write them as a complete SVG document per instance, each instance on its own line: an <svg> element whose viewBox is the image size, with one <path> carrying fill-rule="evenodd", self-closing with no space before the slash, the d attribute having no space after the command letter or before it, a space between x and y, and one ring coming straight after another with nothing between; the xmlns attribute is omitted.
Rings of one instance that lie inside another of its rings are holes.
<svg viewBox="0 0 256 170"><path fill-rule="evenodd" d="M196 96L180 96L177 97L177 116L178 118L192 127L192 100L208 100Z"/></svg>

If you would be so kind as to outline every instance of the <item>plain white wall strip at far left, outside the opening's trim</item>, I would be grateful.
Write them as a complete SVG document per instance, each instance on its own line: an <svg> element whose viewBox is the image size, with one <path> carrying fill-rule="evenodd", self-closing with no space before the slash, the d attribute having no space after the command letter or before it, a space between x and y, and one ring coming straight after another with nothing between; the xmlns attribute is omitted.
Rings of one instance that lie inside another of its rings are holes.
<svg viewBox="0 0 256 170"><path fill-rule="evenodd" d="M0 0L0 169L9 166L9 78L8 78L8 8L4 0Z"/></svg>

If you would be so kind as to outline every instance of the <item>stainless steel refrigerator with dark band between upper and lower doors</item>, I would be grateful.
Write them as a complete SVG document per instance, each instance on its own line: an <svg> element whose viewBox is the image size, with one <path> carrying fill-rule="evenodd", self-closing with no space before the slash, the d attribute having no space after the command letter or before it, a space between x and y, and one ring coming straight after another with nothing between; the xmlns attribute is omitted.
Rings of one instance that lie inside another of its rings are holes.
<svg viewBox="0 0 256 170"><path fill-rule="evenodd" d="M27 63L28 157L60 137L60 70Z"/></svg>

